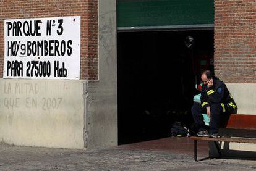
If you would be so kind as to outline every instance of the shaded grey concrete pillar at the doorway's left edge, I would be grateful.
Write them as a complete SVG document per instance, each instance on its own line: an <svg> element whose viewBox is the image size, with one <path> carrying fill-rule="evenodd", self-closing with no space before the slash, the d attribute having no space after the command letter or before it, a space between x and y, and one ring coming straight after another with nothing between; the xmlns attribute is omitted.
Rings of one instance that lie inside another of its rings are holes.
<svg viewBox="0 0 256 171"><path fill-rule="evenodd" d="M99 81L89 81L86 148L117 145L116 1L99 5Z"/></svg>

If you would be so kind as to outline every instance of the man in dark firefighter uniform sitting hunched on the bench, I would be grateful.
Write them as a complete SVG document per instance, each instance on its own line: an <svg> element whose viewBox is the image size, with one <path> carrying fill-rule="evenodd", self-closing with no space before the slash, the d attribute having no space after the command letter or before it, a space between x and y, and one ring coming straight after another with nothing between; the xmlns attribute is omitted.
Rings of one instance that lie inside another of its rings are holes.
<svg viewBox="0 0 256 171"><path fill-rule="evenodd" d="M213 76L210 70L205 70L201 79L203 81L201 104L192 106L192 115L198 129L197 136L219 138L218 128L221 119L228 118L231 113L236 113L237 106L226 85ZM210 117L209 133L202 117L202 113L205 112Z"/></svg>

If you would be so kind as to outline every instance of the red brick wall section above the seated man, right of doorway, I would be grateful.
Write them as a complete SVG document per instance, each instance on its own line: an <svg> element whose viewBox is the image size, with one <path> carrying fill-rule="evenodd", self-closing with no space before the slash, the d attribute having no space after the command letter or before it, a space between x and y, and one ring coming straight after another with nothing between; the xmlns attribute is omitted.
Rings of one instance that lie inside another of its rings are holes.
<svg viewBox="0 0 256 171"><path fill-rule="evenodd" d="M215 74L256 83L256 1L215 0Z"/></svg>

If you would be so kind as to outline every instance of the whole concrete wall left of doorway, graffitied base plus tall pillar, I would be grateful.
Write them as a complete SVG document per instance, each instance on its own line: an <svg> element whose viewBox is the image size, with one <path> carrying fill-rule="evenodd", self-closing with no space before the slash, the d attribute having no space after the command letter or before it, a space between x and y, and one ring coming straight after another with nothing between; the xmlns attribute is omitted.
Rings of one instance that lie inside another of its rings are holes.
<svg viewBox="0 0 256 171"><path fill-rule="evenodd" d="M98 1L99 80L0 80L0 142L117 145L116 1ZM82 57L81 57L82 58Z"/></svg>

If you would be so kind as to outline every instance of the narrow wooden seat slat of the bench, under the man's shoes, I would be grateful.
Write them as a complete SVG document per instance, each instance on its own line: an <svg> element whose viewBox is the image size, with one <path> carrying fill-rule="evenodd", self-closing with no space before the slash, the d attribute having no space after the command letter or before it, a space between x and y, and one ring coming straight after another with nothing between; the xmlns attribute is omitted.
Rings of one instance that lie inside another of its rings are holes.
<svg viewBox="0 0 256 171"><path fill-rule="evenodd" d="M228 138L228 137L221 137L221 138L209 138L209 137L197 137L191 136L193 140L204 140L204 141L224 141L224 142L233 142L233 143L250 143L256 144L256 138Z"/></svg>

